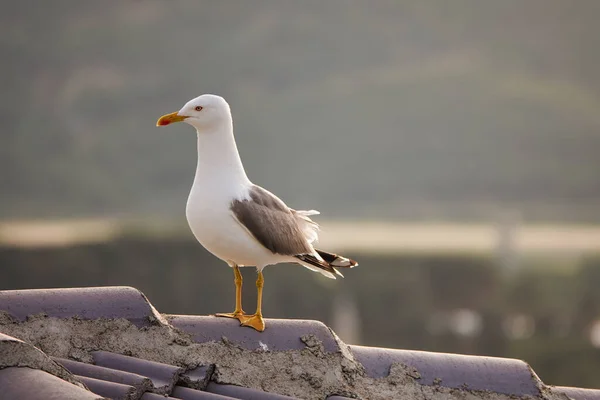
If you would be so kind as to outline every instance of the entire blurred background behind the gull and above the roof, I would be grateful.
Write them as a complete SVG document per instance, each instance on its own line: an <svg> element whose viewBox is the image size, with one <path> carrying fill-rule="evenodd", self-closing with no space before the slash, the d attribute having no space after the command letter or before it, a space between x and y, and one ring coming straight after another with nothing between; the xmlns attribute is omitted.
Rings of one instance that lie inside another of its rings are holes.
<svg viewBox="0 0 600 400"><path fill-rule="evenodd" d="M0 289L230 311L185 221L194 132L154 126L215 93L253 181L360 262L268 268L267 316L600 387L600 2L1 3Z"/></svg>

